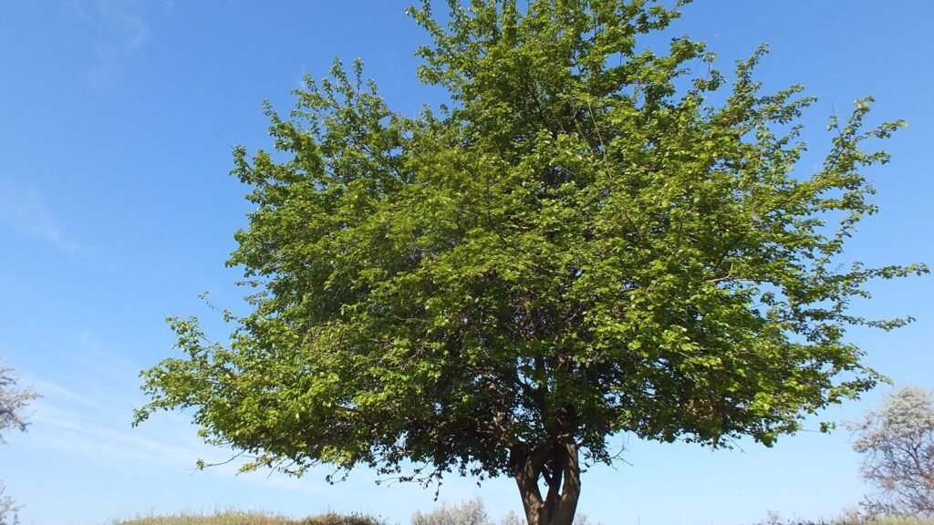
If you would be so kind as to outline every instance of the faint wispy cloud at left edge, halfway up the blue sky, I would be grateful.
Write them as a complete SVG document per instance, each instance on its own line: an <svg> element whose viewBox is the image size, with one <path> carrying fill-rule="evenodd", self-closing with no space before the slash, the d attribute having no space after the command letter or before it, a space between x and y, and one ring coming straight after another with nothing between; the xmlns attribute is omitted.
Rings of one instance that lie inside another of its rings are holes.
<svg viewBox="0 0 934 525"><path fill-rule="evenodd" d="M67 253L80 248L65 234L45 200L33 188L0 182L0 225L47 241Z"/></svg>

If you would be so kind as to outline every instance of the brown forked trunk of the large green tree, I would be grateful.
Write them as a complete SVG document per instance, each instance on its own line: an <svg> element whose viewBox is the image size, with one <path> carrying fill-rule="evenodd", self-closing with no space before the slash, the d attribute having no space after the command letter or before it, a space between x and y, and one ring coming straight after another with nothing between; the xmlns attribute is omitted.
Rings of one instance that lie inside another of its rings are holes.
<svg viewBox="0 0 934 525"><path fill-rule="evenodd" d="M529 525L571 525L581 491L577 444L513 447L510 455ZM540 477L548 487L545 498L539 489Z"/></svg>

